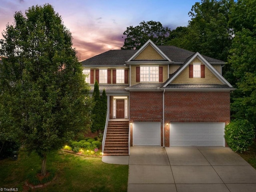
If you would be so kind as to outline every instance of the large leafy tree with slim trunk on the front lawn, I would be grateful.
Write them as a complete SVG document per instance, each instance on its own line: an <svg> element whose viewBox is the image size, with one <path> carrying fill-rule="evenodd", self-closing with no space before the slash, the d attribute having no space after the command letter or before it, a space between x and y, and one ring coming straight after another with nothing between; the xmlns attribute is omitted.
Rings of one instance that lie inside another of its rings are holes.
<svg viewBox="0 0 256 192"><path fill-rule="evenodd" d="M72 36L50 4L16 12L2 32L1 130L16 128L28 151L42 158L90 125L89 88Z"/></svg>

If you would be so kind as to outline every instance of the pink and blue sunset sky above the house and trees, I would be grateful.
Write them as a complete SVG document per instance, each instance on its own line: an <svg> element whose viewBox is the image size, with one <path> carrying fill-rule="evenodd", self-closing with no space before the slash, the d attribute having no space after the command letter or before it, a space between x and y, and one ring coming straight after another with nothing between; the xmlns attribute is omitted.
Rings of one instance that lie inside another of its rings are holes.
<svg viewBox="0 0 256 192"><path fill-rule="evenodd" d="M171 29L187 26L195 2L200 0L0 0L0 39L16 11L25 13L33 5L49 3L72 33L78 58L85 60L120 49L126 28L142 21L159 21Z"/></svg>

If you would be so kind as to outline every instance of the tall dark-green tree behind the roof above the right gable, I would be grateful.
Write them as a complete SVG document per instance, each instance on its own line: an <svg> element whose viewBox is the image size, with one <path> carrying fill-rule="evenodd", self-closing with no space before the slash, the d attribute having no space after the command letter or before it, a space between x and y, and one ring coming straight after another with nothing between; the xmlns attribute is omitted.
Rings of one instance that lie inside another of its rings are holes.
<svg viewBox="0 0 256 192"><path fill-rule="evenodd" d="M168 44L227 61L232 42L228 14L233 0L201 0L188 13L187 27L170 32Z"/></svg>

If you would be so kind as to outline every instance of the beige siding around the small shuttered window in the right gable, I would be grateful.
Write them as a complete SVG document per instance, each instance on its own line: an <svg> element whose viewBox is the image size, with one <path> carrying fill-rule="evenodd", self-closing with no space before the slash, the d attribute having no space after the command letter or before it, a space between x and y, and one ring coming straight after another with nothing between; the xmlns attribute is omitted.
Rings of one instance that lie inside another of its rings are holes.
<svg viewBox="0 0 256 192"><path fill-rule="evenodd" d="M193 60L194 63L201 63L198 58ZM192 62L192 63L193 63ZM202 63L201 63L202 64ZM205 67L205 78L189 78L189 66L187 66L176 79L173 80L172 84L222 84L222 82L207 68Z"/></svg>

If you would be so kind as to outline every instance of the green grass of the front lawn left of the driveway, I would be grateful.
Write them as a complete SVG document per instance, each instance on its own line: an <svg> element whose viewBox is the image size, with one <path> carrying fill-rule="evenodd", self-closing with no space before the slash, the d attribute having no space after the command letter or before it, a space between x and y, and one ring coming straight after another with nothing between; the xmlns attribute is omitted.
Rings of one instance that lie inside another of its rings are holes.
<svg viewBox="0 0 256 192"><path fill-rule="evenodd" d="M128 165L105 164L101 157L84 157L65 152L48 155L47 169L57 170L57 178L40 192L125 192ZM41 160L32 153L20 152L17 161L0 161L0 188L18 188L22 191L26 176L40 170Z"/></svg>

